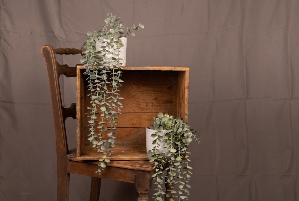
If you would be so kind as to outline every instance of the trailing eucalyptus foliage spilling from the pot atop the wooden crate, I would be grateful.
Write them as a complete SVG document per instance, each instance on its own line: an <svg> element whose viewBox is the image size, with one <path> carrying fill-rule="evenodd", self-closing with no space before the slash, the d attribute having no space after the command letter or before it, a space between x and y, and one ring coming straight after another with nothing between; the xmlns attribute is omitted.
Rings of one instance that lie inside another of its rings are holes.
<svg viewBox="0 0 299 201"><path fill-rule="evenodd" d="M81 63L84 64L87 75L88 89L91 107L89 109L89 138L92 147L103 154L100 159L102 162L98 173L110 162L106 156L111 155L115 146L117 135L117 118L121 114L123 107L120 102L120 87L123 80L122 63L120 58L120 48L123 47L121 37L129 35L135 36L134 31L144 28L143 25L126 28L120 21L119 17L113 16L112 13L107 15L104 20L103 28L99 31L87 33L87 39L83 43ZM99 50L96 50L96 43L100 42ZM104 138L107 136L106 138Z"/></svg>

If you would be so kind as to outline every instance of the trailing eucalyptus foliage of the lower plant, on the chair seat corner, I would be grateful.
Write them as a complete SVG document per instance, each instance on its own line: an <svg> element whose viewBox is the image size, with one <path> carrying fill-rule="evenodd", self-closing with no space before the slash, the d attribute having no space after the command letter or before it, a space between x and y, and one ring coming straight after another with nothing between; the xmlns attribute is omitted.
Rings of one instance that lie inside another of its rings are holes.
<svg viewBox="0 0 299 201"><path fill-rule="evenodd" d="M192 168L187 147L193 139L200 143L200 138L194 135L196 131L189 127L180 117L174 118L162 112L154 117L153 125L149 127L156 130L152 134L152 144L155 146L147 153L150 162L154 162L155 200L161 201L164 196L170 197L171 201L188 200ZM162 130L167 130L164 136L159 134ZM163 148L168 148L160 150L160 153L158 147L162 141L165 143ZM166 191L163 190L164 184L168 187Z"/></svg>

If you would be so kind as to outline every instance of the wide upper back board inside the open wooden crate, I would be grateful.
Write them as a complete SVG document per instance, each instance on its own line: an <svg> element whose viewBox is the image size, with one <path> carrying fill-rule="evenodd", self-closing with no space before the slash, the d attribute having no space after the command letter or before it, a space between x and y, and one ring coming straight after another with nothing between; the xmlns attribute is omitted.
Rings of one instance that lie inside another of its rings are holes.
<svg viewBox="0 0 299 201"><path fill-rule="evenodd" d="M158 112L177 110L177 71L123 71L124 81L120 89L120 100L123 104L122 113L126 112ZM91 107L89 90L84 89L86 107Z"/></svg>

